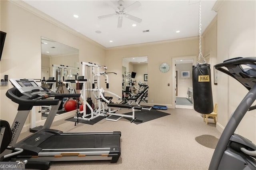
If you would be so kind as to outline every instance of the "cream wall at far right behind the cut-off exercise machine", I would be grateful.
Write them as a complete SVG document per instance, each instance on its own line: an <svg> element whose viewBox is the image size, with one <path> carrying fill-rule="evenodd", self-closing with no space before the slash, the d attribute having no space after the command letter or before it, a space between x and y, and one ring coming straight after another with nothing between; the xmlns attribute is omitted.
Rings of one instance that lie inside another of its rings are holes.
<svg viewBox="0 0 256 170"><path fill-rule="evenodd" d="M218 9L217 63L234 57L256 56L256 1L224 1ZM224 73L218 73L218 124L222 129L248 90ZM238 134L256 142L256 112L250 111Z"/></svg>

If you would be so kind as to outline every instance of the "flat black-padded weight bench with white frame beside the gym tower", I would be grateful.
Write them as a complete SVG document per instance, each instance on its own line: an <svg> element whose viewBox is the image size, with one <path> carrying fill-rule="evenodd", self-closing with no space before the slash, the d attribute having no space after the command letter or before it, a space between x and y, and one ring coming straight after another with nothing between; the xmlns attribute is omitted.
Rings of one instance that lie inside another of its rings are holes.
<svg viewBox="0 0 256 170"><path fill-rule="evenodd" d="M119 108L111 111L111 108ZM124 114L117 114L116 111L119 111L121 108L123 109L132 109L132 115L124 115ZM106 113L109 115L106 120L108 121L118 121L122 117L129 117L132 118L131 123L136 119L135 117L135 110L141 111L142 107L134 106L134 105L127 105L127 104L117 104L117 103L109 103L108 104L108 112Z"/></svg>

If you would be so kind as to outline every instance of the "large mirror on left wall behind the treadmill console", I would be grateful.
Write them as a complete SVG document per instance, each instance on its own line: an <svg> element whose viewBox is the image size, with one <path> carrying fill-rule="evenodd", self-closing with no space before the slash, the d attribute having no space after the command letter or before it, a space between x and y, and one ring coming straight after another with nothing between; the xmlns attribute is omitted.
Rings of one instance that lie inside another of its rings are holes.
<svg viewBox="0 0 256 170"><path fill-rule="evenodd" d="M79 74L79 50L68 45L56 42L49 38L41 37L41 79L53 79L56 83L48 82L48 87L56 91L58 82L66 79L76 79ZM68 84L68 90L72 93L75 87ZM49 108L42 107L42 119L47 117ZM61 111L57 114L61 114Z"/></svg>

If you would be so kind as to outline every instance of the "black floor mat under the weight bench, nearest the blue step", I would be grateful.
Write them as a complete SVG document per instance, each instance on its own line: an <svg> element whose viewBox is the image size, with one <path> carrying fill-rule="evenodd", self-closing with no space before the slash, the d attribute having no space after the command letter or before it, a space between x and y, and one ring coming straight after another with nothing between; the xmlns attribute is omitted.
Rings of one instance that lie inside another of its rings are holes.
<svg viewBox="0 0 256 170"><path fill-rule="evenodd" d="M129 113L125 113L124 115L132 115L132 112ZM140 124L140 123L144 123L147 121L152 121L154 119L158 119L160 117L164 117L170 115L169 113L164 113L161 111L157 111L155 109L151 109L150 111L135 111L135 121L133 123L135 124ZM125 119L131 121L131 118L128 117L124 117Z"/></svg>

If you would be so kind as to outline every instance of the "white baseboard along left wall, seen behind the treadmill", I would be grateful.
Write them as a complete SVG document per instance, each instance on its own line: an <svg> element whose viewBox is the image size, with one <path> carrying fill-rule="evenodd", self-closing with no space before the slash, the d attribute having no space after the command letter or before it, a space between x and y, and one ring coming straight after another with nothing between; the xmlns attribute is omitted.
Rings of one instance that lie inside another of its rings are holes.
<svg viewBox="0 0 256 170"><path fill-rule="evenodd" d="M76 114L76 111L70 111L70 112L67 112L67 113L63 113L63 114L60 114L60 115L56 115L53 122L55 121L59 121L59 120L62 120L62 119L66 119L66 118L69 118L71 116L74 116ZM43 126L44 123L45 123L46 119L44 120L40 120L40 121L37 121L36 122L36 127L38 126ZM24 125L24 127L22 128L21 130L21 133L23 132L29 132L29 129L30 129L30 123L27 124L27 125Z"/></svg>

